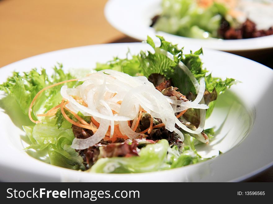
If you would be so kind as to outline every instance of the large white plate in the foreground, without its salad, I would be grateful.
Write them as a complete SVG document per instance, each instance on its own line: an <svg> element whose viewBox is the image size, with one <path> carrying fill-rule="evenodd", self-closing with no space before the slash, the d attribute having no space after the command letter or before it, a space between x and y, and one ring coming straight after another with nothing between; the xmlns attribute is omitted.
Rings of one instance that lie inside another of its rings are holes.
<svg viewBox="0 0 273 204"><path fill-rule="evenodd" d="M113 56L125 57L150 49L143 43L102 44L70 48L30 57L0 69L0 83L13 70L27 71L41 66L50 71L56 62L65 70L93 68ZM192 47L191 47L192 48ZM193 50L197 48L192 48ZM0 180L1 181L240 181L273 164L273 71L254 61L229 53L204 49L204 66L216 77L232 77L234 85L218 98L206 127L216 126L217 136L210 145L198 147L200 153L224 154L173 170L141 174L91 174L53 166L29 156L22 142L24 132L18 123L20 111L12 104L0 111ZM1 93L3 97L3 93ZM0 100L0 107L4 106ZM8 113L9 115L7 115ZM255 119L256 116L256 119ZM25 123L28 124L28 120Z"/></svg>

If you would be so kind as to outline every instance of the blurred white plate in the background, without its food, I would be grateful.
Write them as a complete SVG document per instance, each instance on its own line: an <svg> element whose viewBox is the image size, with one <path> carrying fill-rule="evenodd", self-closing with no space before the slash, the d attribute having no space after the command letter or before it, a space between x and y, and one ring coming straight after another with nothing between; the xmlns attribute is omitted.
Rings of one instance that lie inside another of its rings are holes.
<svg viewBox="0 0 273 204"><path fill-rule="evenodd" d="M222 51L250 51L273 48L273 35L238 40L194 39L165 32L156 32L151 28L151 19L160 13L161 0L109 0L105 6L105 17L108 22L124 34L146 40L147 35L163 36L167 41L180 46L202 46Z"/></svg>

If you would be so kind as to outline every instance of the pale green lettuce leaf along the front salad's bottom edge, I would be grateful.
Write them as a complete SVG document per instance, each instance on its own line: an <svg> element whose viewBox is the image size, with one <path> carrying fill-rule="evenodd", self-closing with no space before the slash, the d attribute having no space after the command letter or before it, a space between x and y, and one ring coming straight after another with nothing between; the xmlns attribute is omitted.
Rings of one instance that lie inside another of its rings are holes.
<svg viewBox="0 0 273 204"><path fill-rule="evenodd" d="M100 158L89 170L96 173L141 173L166 170L204 161L189 146L170 147L165 139L141 148L139 156Z"/></svg>

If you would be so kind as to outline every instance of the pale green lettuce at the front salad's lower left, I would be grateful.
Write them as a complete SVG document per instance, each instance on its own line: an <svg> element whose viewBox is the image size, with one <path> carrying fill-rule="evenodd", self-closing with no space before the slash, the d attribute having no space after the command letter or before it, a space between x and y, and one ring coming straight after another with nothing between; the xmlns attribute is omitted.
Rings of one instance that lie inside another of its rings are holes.
<svg viewBox="0 0 273 204"><path fill-rule="evenodd" d="M71 124L66 120L60 128L55 124L55 119L48 118L34 126L24 126L25 133L32 142L26 149L34 149L36 151L46 149L50 162L53 165L58 165L58 160L60 160L58 166L64 166L64 163L67 162L67 166L74 164L73 167L70 166L71 169L83 168L83 158L79 156L75 149L70 147L75 138Z"/></svg>

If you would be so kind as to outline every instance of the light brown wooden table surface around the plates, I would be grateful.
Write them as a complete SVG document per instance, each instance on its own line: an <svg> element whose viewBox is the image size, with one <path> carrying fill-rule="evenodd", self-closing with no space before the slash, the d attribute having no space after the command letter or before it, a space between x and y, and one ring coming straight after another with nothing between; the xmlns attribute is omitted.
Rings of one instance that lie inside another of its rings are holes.
<svg viewBox="0 0 273 204"><path fill-rule="evenodd" d="M107 0L0 0L0 67L44 52L83 45L136 42L106 21ZM271 53L271 54L268 54ZM272 50L237 53L273 68ZM248 179L273 182L273 168Z"/></svg>

